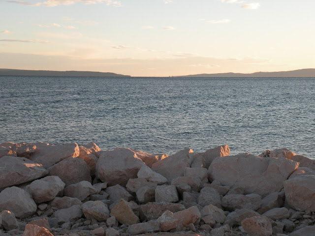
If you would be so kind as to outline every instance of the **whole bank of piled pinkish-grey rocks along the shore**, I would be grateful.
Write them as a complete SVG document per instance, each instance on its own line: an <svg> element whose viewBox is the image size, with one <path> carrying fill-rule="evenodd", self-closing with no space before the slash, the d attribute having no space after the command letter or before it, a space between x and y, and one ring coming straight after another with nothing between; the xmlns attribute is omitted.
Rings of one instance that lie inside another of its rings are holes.
<svg viewBox="0 0 315 236"><path fill-rule="evenodd" d="M229 153L2 143L0 236L315 235L314 160Z"/></svg>

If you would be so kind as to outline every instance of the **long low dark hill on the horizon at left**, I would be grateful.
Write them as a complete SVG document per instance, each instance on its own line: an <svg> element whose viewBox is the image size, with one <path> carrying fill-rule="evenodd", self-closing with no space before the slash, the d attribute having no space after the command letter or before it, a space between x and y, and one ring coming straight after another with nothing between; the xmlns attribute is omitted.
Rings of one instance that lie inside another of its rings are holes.
<svg viewBox="0 0 315 236"><path fill-rule="evenodd" d="M86 77L130 77L110 72L94 71L54 71L54 70L16 70L0 69L0 75L23 75L23 76L86 76Z"/></svg>

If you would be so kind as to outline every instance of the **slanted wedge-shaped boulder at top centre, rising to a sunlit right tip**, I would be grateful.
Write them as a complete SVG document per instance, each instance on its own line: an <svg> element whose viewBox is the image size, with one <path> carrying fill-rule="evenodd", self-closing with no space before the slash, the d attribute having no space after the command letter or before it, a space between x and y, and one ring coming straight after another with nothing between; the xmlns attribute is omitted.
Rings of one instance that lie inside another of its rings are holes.
<svg viewBox="0 0 315 236"><path fill-rule="evenodd" d="M194 158L193 150L187 148L154 163L152 170L171 181L173 178L184 176L185 169L190 167Z"/></svg>

